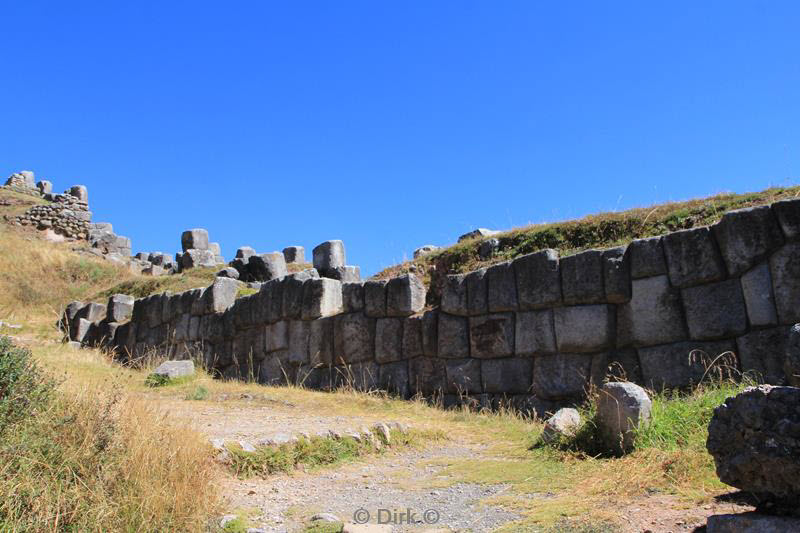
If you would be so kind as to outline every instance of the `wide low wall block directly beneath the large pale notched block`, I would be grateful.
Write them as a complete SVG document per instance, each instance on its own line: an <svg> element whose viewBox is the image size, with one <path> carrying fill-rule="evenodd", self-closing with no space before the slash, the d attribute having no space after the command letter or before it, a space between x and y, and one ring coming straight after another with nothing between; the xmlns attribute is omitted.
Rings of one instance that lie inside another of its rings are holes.
<svg viewBox="0 0 800 533"><path fill-rule="evenodd" d="M713 361L717 360L716 365L719 365L723 361L735 359L735 356L718 359L718 356L726 352L736 352L733 341L687 341L639 348L644 386L661 390L696 385L706 375L706 370ZM714 375L713 372L709 371L709 375Z"/></svg>

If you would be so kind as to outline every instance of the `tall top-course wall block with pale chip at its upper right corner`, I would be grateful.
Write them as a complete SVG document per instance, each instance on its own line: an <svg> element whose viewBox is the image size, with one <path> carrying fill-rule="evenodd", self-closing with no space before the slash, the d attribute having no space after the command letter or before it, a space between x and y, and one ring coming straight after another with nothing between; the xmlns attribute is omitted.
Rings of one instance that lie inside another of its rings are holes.
<svg viewBox="0 0 800 533"><path fill-rule="evenodd" d="M551 249L514 259L519 308L540 309L561 302L561 269L558 252Z"/></svg>

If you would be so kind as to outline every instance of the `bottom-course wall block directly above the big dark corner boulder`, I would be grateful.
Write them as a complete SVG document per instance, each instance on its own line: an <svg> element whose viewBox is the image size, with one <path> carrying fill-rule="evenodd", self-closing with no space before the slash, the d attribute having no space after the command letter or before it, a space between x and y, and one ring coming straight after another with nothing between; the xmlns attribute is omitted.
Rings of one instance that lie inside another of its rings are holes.
<svg viewBox="0 0 800 533"><path fill-rule="evenodd" d="M737 355L742 372L759 383L783 385L786 381L784 362L791 346L791 328L751 331L736 339Z"/></svg>

